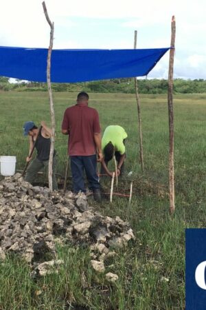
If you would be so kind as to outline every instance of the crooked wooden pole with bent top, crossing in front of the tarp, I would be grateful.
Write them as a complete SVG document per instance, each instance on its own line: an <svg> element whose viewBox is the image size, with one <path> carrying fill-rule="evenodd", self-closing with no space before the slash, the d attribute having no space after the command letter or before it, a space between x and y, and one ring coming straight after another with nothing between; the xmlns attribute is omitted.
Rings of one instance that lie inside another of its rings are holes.
<svg viewBox="0 0 206 310"><path fill-rule="evenodd" d="M54 23L50 21L49 15L47 13L47 8L45 5L45 1L42 3L45 17L50 26L50 41L49 41L49 50L47 54L47 87L49 92L49 104L50 104L50 115L51 115L51 123L52 123L52 137L51 137L51 147L49 154L49 189L52 191L52 166L53 166L53 154L54 154L54 136L55 136L55 116L54 116L54 103L52 96L52 86L51 86L51 56L52 56L52 48L53 48L53 40L54 40Z"/></svg>

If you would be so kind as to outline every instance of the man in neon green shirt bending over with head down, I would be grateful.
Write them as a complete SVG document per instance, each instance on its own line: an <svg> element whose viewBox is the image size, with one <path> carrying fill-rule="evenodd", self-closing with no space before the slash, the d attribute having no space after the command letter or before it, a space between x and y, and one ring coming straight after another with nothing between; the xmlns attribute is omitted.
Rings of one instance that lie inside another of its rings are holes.
<svg viewBox="0 0 206 310"><path fill-rule="evenodd" d="M110 125L104 130L102 136L102 152L103 159L101 161L101 172L100 174L108 174L113 176L113 173L108 170L108 161L111 161L115 156L117 161L117 176L121 175L124 170L124 160L126 158L125 153L125 139L127 134L121 126Z"/></svg>

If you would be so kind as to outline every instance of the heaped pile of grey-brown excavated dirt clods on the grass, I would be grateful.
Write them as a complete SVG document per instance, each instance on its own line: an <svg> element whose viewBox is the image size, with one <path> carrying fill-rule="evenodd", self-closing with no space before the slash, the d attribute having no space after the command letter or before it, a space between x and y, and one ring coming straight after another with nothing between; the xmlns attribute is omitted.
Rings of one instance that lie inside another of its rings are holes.
<svg viewBox="0 0 206 310"><path fill-rule="evenodd" d="M55 254L56 236L87 242L96 271L104 271L104 260L113 255L110 247L122 247L135 238L128 223L94 211L83 193L49 192L25 182L21 174L1 180L0 259L13 252L34 265L42 254Z"/></svg>

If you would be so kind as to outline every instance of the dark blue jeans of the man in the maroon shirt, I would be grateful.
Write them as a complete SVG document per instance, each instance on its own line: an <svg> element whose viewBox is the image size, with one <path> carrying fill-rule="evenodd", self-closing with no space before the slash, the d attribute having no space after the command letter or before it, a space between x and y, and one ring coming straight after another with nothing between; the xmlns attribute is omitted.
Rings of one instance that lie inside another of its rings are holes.
<svg viewBox="0 0 206 310"><path fill-rule="evenodd" d="M89 189L99 189L97 174L97 156L70 156L73 192L86 192L84 187L84 170L89 182Z"/></svg>

